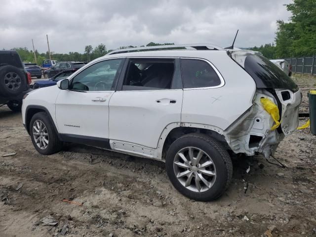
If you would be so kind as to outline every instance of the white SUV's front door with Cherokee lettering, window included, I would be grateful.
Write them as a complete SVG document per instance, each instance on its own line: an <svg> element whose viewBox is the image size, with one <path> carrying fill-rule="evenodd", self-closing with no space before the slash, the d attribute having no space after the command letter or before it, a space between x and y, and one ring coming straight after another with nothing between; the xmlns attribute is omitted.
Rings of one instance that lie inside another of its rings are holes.
<svg viewBox="0 0 316 237"><path fill-rule="evenodd" d="M56 121L62 136L109 137L109 101L124 59L97 62L70 79L70 88L56 100Z"/></svg>

